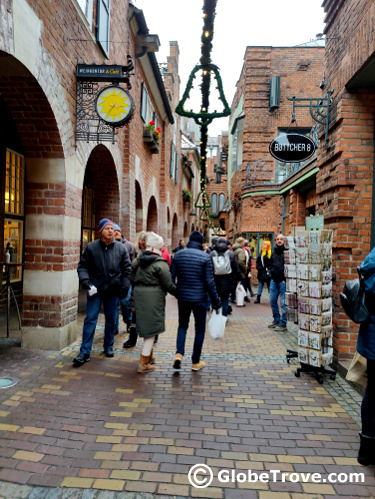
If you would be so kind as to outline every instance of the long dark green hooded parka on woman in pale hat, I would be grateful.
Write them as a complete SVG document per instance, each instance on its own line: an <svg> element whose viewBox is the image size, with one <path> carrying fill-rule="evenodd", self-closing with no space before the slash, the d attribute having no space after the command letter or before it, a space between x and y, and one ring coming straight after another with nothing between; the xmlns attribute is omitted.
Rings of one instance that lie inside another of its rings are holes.
<svg viewBox="0 0 375 499"><path fill-rule="evenodd" d="M132 262L130 282L134 290L137 334L148 338L165 331L165 297L177 294L163 257L143 251Z"/></svg>

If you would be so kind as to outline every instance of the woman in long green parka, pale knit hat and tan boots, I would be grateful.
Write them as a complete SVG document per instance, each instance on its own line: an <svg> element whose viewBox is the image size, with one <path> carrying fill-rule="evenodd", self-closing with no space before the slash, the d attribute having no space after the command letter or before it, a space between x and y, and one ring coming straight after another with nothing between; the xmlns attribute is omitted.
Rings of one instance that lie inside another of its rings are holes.
<svg viewBox="0 0 375 499"><path fill-rule="evenodd" d="M155 336L165 331L165 296L176 296L168 262L163 258L163 238L155 232L147 236L147 247L132 263L130 281L134 287L137 335L144 339L138 372L155 369Z"/></svg>

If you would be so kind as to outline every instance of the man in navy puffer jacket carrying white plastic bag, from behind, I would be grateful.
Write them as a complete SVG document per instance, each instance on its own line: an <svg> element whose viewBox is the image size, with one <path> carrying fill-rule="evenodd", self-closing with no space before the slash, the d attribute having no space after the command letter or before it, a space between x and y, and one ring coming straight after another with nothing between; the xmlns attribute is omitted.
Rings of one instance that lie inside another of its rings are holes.
<svg viewBox="0 0 375 499"><path fill-rule="evenodd" d="M174 282L177 279L178 290L178 330L174 369L181 369L191 313L195 320L191 368L193 371L199 371L205 366L200 358L206 334L207 292L210 295L213 309L218 310L221 307L214 281L212 260L203 251L203 243L203 235L197 230L193 231L190 234L187 249L179 251L172 260L172 279Z"/></svg>

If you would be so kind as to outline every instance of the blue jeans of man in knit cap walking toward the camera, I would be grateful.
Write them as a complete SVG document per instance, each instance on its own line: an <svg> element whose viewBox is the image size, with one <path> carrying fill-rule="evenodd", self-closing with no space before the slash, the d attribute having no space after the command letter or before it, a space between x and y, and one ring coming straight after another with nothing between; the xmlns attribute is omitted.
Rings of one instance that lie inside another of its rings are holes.
<svg viewBox="0 0 375 499"><path fill-rule="evenodd" d="M116 327L116 309L118 309L118 297L109 296L108 298L102 298L97 293L94 296L90 296L87 293L87 310L86 318L83 323L82 332L82 343L80 348L80 353L91 353L92 343L94 341L94 334L96 323L98 322L100 308L103 303L104 316L105 316L105 327L104 327L104 350L112 347L115 338L115 327Z"/></svg>

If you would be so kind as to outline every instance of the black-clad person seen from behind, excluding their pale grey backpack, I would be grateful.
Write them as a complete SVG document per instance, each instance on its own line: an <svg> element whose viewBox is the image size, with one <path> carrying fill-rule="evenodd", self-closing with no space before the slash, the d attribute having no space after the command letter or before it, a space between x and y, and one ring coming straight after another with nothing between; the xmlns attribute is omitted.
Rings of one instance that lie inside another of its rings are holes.
<svg viewBox="0 0 375 499"><path fill-rule="evenodd" d="M227 253L228 252L228 253ZM230 273L217 274L215 272L214 257L216 255L228 255L230 260ZM241 283L241 272L233 251L228 249L227 240L219 237L215 243L215 249L210 253L214 267L214 279L217 293L221 300L222 314L227 317L229 307L229 295L236 288L236 284Z"/></svg>

